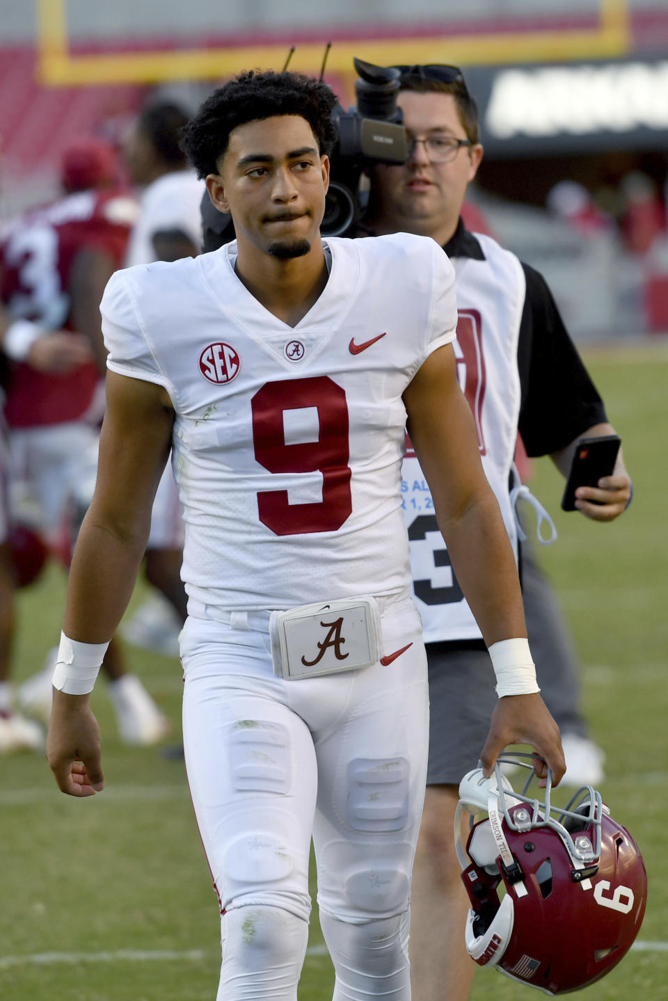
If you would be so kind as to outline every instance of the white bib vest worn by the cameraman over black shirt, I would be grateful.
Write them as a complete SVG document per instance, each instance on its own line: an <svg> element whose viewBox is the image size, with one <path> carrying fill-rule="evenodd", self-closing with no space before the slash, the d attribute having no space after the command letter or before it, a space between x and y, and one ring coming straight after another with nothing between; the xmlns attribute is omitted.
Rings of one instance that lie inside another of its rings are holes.
<svg viewBox="0 0 668 1001"><path fill-rule="evenodd" d="M455 354L460 385L476 423L483 468L517 558L509 477L520 415L517 347L526 280L515 254L489 236L476 233L476 239L485 260L452 259L459 308ZM411 448L404 460L402 504L425 642L481 639L439 532L429 484Z"/></svg>

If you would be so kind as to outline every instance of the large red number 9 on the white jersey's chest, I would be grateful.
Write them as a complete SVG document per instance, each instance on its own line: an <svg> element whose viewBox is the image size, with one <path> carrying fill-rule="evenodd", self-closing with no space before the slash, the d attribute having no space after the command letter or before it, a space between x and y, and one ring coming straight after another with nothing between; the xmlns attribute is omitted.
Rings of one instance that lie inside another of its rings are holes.
<svg viewBox="0 0 668 1001"><path fill-rule="evenodd" d="M276 536L341 529L353 511L346 391L328 375L290 378L265 382L250 402L255 458L265 469L322 473L322 499L315 503L290 504L287 490L258 491L262 525ZM283 411L306 406L317 409L317 441L286 444Z"/></svg>

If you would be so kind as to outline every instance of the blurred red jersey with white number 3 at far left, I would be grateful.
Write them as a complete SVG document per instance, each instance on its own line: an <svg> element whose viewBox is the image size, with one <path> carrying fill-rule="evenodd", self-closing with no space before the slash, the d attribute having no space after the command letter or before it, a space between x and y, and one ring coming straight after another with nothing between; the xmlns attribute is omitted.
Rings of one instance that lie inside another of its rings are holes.
<svg viewBox="0 0 668 1001"><path fill-rule="evenodd" d="M47 329L71 329L69 287L81 250L107 254L120 267L136 203L119 190L81 191L15 220L1 254L1 297L12 317ZM10 426L77 420L91 405L100 379L93 363L67 373L12 366L5 414Z"/></svg>

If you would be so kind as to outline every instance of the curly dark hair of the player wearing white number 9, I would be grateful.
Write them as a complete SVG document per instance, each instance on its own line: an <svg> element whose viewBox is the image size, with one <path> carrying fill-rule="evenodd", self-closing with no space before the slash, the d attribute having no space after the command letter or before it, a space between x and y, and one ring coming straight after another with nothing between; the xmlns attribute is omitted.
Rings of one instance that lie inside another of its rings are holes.
<svg viewBox="0 0 668 1001"><path fill-rule="evenodd" d="M299 115L310 125L320 153L337 140L331 111L337 96L330 88L303 73L246 70L218 87L181 132L181 148L197 176L217 173L217 161L227 149L229 133L246 122L274 115Z"/></svg>

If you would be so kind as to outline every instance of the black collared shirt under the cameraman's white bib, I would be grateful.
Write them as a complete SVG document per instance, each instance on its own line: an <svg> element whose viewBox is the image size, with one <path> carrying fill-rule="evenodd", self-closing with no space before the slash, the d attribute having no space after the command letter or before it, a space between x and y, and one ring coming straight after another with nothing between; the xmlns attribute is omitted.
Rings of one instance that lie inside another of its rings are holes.
<svg viewBox="0 0 668 1001"><path fill-rule="evenodd" d="M461 218L443 249L449 257L486 259ZM517 349L519 430L529 455L548 455L607 416L545 278L529 264L520 263L527 290Z"/></svg>

